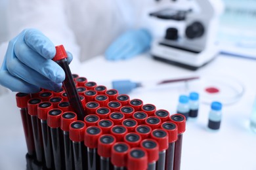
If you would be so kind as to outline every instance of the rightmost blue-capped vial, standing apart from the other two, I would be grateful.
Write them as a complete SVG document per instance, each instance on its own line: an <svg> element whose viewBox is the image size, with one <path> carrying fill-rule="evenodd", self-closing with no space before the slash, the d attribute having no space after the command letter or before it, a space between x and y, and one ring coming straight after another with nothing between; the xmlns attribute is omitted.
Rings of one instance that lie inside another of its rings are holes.
<svg viewBox="0 0 256 170"><path fill-rule="evenodd" d="M219 101L211 103L208 122L209 129L218 130L221 127L222 107L223 105Z"/></svg>

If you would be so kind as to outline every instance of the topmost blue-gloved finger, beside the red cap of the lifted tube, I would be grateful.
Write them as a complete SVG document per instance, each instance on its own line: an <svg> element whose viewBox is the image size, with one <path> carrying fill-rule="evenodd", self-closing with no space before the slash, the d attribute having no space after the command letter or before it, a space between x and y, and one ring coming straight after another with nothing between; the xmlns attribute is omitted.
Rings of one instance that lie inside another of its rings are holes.
<svg viewBox="0 0 256 170"><path fill-rule="evenodd" d="M35 50L39 55L43 56L45 59L52 59L56 54L56 49L53 42L50 41L48 37L43 35L41 31L37 29L25 29L22 31L24 33L22 39L24 42Z"/></svg>

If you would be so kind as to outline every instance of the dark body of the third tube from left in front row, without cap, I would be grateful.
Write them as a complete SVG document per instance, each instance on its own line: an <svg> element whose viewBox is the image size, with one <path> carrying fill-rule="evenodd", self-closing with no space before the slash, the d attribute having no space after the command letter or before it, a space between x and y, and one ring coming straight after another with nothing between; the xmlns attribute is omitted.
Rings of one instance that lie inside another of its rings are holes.
<svg viewBox="0 0 256 170"><path fill-rule="evenodd" d="M50 127L47 126L47 120L41 120L41 129L43 137L43 150L45 151L45 165L47 169L53 169L54 161L51 141L51 130Z"/></svg>

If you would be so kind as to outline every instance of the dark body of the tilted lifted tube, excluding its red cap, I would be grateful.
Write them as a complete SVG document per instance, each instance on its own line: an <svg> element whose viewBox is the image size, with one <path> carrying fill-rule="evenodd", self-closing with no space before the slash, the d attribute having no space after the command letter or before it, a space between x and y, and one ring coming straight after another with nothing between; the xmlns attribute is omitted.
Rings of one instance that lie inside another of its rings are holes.
<svg viewBox="0 0 256 170"><path fill-rule="evenodd" d="M77 93L74 78L72 76L72 73L70 71L70 67L68 66L68 63L65 59L60 59L56 61L62 69L65 71L65 80L63 82L63 86L66 90L66 93L68 94L68 101L70 102L70 105L75 110L75 113L77 114L78 120L83 120L85 118L85 112L83 110L83 106L81 104L79 94Z"/></svg>

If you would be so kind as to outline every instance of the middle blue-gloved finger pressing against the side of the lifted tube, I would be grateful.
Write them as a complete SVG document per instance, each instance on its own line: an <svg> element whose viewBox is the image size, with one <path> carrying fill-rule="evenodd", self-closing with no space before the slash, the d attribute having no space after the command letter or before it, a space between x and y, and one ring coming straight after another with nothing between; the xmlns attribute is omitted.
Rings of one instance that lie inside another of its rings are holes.
<svg viewBox="0 0 256 170"><path fill-rule="evenodd" d="M43 58L39 53L30 48L20 37L18 37L14 43L14 54L8 55L7 65L10 65L12 60L18 58L24 65L27 65L53 82L59 83L65 79L65 73L58 63L52 59ZM19 66L18 63L19 62L15 62L17 67Z"/></svg>

